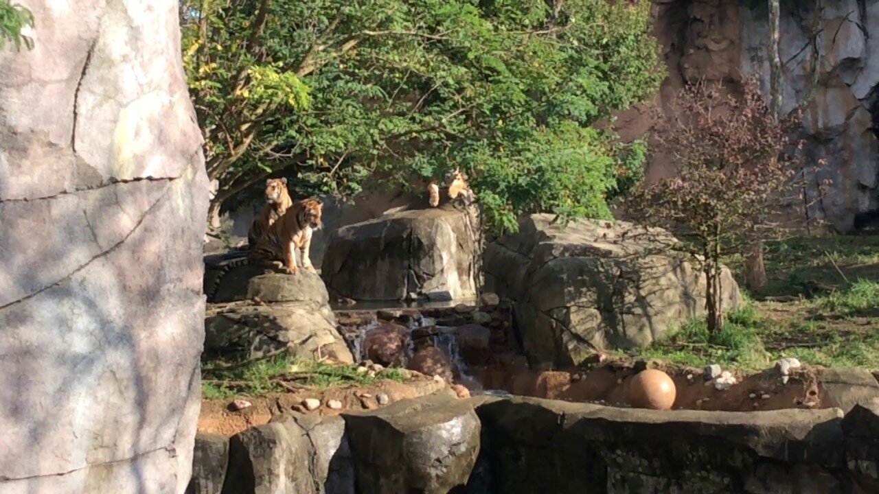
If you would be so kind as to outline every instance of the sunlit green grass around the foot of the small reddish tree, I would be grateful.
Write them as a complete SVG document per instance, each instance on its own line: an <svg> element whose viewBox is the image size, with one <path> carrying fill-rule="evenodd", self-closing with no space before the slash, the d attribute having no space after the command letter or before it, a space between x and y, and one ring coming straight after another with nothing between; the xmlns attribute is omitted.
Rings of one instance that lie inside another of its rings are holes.
<svg viewBox="0 0 879 494"><path fill-rule="evenodd" d="M745 371L795 357L810 365L875 371L879 370L877 307L879 284L866 280L806 303L749 301L744 308L730 312L723 329L715 334L708 332L704 321L694 320L630 355L683 366L720 364Z"/></svg>

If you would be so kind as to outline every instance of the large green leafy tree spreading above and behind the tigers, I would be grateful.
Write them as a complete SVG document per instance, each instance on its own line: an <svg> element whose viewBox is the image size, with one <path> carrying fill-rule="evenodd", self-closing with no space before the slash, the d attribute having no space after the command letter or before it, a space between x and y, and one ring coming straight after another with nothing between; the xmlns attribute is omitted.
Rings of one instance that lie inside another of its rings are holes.
<svg viewBox="0 0 879 494"><path fill-rule="evenodd" d="M294 193L352 194L460 166L496 231L534 211L607 216L645 153L590 126L661 81L649 14L606 0L184 0L212 213L282 169Z"/></svg>

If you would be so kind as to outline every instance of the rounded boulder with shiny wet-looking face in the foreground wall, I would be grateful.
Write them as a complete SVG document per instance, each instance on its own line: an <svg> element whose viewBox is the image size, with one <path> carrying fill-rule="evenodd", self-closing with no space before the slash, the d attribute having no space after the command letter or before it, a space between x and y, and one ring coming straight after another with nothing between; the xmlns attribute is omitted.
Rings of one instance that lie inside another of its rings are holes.
<svg viewBox="0 0 879 494"><path fill-rule="evenodd" d="M467 483L480 445L473 405L437 394L345 414L358 492L445 494Z"/></svg>

